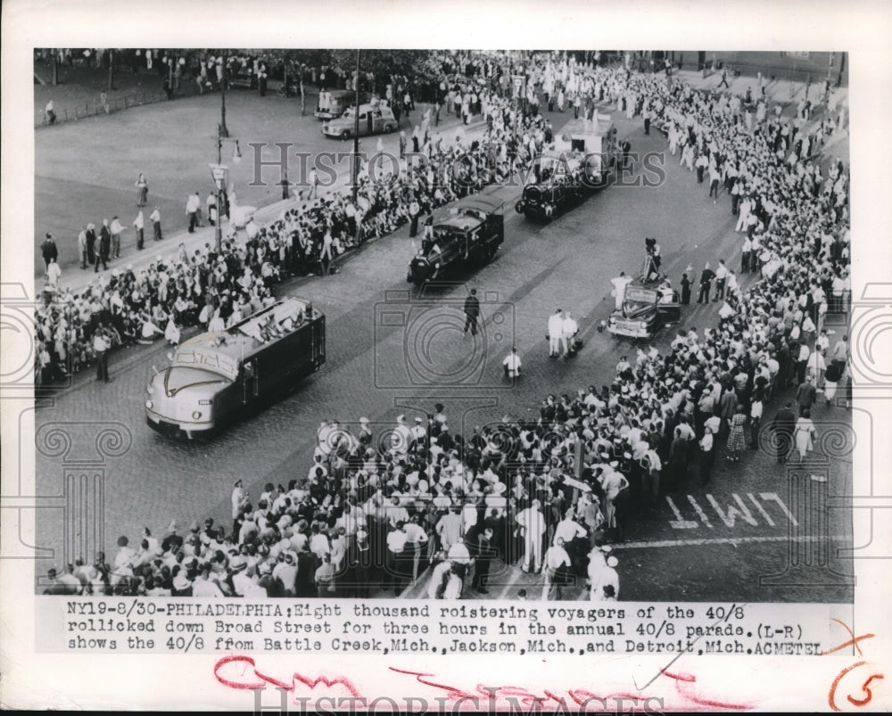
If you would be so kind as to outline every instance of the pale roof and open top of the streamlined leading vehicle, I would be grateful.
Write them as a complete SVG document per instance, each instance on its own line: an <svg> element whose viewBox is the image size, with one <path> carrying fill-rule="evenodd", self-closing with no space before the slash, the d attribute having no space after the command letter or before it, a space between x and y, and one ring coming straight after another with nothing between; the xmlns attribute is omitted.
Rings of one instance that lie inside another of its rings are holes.
<svg viewBox="0 0 892 716"><path fill-rule="evenodd" d="M298 314L318 318L322 314L312 308L310 301L287 296L272 306L261 309L250 317L230 326L226 331L210 331L190 338L179 346L174 356L174 366L211 370L230 380L235 380L244 358L250 358L267 345L260 341L260 326L272 317L278 323Z"/></svg>

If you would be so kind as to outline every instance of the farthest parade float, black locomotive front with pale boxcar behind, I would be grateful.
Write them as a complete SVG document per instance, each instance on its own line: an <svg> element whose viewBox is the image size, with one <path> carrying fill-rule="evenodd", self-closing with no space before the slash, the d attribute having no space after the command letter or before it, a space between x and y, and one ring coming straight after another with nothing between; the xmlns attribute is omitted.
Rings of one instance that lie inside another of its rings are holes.
<svg viewBox="0 0 892 716"><path fill-rule="evenodd" d="M606 186L617 162L612 119L571 119L555 137L554 150L533 160L533 182L515 210L526 218L551 219Z"/></svg>

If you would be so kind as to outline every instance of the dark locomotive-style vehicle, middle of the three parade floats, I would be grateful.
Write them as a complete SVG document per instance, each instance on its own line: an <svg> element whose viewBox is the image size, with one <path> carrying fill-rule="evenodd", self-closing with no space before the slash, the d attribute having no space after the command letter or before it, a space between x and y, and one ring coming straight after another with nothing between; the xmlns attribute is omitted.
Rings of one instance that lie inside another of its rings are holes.
<svg viewBox="0 0 892 716"><path fill-rule="evenodd" d="M469 196L434 222L434 236L422 242L409 262L406 280L420 286L447 269L471 261L487 263L505 241L504 202L490 196Z"/></svg>

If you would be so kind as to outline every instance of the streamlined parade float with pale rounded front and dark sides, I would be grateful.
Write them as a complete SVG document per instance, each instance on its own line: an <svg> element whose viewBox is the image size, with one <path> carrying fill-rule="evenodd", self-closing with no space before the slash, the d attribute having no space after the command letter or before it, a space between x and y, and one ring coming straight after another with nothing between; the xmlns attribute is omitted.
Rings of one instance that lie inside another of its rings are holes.
<svg viewBox="0 0 892 716"><path fill-rule="evenodd" d="M178 347L146 386L145 422L167 437L210 434L277 399L326 360L326 317L287 297Z"/></svg>

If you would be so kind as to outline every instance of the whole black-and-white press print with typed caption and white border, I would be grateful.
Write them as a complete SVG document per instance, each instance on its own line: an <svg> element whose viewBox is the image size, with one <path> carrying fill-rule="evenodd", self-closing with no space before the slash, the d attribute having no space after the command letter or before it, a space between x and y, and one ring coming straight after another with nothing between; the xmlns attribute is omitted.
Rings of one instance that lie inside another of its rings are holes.
<svg viewBox="0 0 892 716"><path fill-rule="evenodd" d="M207 20L17 47L3 556L37 652L201 654L255 712L370 694L252 654L880 658L892 284L852 152L888 52ZM815 708L889 703L845 668ZM767 708L641 671L637 711Z"/></svg>

